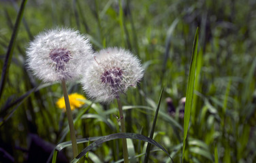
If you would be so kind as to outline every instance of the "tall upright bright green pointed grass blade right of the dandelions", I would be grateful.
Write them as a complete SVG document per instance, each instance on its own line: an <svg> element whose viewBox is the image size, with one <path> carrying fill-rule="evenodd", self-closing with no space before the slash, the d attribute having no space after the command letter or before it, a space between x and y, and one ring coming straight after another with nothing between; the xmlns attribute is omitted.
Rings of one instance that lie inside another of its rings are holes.
<svg viewBox="0 0 256 163"><path fill-rule="evenodd" d="M195 67L197 61L197 45L198 45L198 28L195 32L195 39L193 44L193 52L191 58L191 65L189 68L189 82L187 84L186 103L185 103L185 115L184 115L184 134L183 134L183 148L182 148L182 162L185 156L185 145L187 139L187 131L189 129L189 119L193 101L193 92L195 84Z"/></svg>

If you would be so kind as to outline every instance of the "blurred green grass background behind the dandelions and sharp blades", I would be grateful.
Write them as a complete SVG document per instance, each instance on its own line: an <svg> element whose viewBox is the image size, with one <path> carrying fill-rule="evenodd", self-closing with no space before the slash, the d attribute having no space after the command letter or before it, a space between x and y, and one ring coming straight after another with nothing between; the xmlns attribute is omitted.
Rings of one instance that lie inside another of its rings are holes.
<svg viewBox="0 0 256 163"><path fill-rule="evenodd" d="M1 71L20 3L0 1ZM198 67L185 162L256 162L255 0L29 0L0 101L0 162L7 162L4 156L10 162L46 162L54 145L70 140L65 132L67 118L56 105L62 96L60 84L43 84L26 66L29 41L56 27L80 31L91 39L95 51L122 47L142 60L144 78L138 88L121 97L127 108L127 132L149 135L163 84L154 140L174 162L181 162L184 105L179 101L187 90L197 26ZM86 96L78 82L69 83L68 91ZM74 111L75 119L81 115L75 124L77 137L118 132L116 101L90 103ZM80 151L86 145L79 145ZM146 149L143 141L128 141L128 145L129 156ZM170 162L163 151L155 149L152 146L150 162ZM70 147L59 156L63 162L70 160ZM110 141L84 160L116 162L122 157L121 141Z"/></svg>

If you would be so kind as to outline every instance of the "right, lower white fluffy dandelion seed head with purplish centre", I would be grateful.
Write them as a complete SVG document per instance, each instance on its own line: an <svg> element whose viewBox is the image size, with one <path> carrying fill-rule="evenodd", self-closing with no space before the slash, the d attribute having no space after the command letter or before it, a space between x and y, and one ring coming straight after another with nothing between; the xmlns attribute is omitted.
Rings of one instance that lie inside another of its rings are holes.
<svg viewBox="0 0 256 163"><path fill-rule="evenodd" d="M135 88L143 75L140 60L131 52L107 48L95 54L95 60L84 71L82 85L95 101L109 103L127 88Z"/></svg>

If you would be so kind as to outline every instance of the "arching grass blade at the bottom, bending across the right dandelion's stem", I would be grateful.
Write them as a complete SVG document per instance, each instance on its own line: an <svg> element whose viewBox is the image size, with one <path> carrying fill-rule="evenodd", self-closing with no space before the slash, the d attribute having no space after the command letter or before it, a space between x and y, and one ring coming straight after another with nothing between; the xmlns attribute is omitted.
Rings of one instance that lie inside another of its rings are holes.
<svg viewBox="0 0 256 163"><path fill-rule="evenodd" d="M78 156L72 160L72 163L76 163L80 160L80 158L82 158L82 156L84 156L88 151L90 151L91 149L93 149L94 147L97 147L97 145L101 145L102 143L106 142L106 141L112 141L115 139L137 139L137 140L142 140L142 141L146 141L148 143L151 143L153 145L156 145L157 147L159 147L160 149L162 149L162 151L164 151L165 153L167 153L167 155L170 157L169 153L166 151L166 149L161 146L159 143L157 143L156 141L154 141L153 139L150 139L149 137L145 137L142 134L135 134L135 133L116 133L116 134L110 134L107 136L103 136L100 139L98 139L97 141L91 143L91 145L89 145L88 147L86 147L85 149L82 150L81 153L78 154ZM91 139L90 139L91 141ZM170 157L171 158L171 157Z"/></svg>

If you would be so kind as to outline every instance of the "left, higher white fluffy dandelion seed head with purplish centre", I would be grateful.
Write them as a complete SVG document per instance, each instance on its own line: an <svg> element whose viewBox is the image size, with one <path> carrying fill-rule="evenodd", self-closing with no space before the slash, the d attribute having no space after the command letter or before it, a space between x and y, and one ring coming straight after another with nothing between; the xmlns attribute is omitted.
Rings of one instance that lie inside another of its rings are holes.
<svg viewBox="0 0 256 163"><path fill-rule="evenodd" d="M89 39L71 29L40 33L27 49L29 69L44 82L77 79L93 59Z"/></svg>

